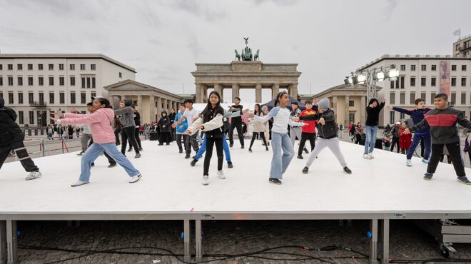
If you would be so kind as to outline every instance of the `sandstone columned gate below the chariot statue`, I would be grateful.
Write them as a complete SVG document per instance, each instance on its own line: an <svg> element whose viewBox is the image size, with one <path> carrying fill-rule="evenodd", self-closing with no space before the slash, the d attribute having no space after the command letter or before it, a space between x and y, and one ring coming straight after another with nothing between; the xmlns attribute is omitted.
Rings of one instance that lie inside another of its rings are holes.
<svg viewBox="0 0 471 264"><path fill-rule="evenodd" d="M262 103L262 89L270 88L272 97L287 88L298 98L298 64L263 64L261 61L232 61L231 64L196 64L196 103L206 103L208 89L213 88L223 97L225 88L231 89L232 98L240 89L255 88L255 103Z"/></svg>

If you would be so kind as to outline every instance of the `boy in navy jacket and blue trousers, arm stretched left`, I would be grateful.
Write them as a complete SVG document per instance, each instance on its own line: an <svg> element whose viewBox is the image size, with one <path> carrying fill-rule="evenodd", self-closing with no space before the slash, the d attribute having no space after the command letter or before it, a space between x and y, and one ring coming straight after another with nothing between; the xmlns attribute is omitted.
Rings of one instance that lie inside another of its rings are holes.
<svg viewBox="0 0 471 264"><path fill-rule="evenodd" d="M415 106L416 109L414 110L407 110L404 108L400 107L392 107L388 106L390 110L397 111L400 113L405 113L409 115L412 118L412 121L414 122L414 125L417 125L417 123L422 122L425 118L425 113L428 111L432 110L431 108L425 107L425 100L422 98L418 98L415 100ZM415 148L420 143L420 140L424 140L424 155L422 158L422 163L428 163L428 158L430 157L430 127L427 126L423 130L416 131L414 133L414 138L412 138L412 144L410 145L409 150L407 151L407 160L405 161L407 166L412 166L412 162L410 161L412 158L412 155L414 154Z"/></svg>

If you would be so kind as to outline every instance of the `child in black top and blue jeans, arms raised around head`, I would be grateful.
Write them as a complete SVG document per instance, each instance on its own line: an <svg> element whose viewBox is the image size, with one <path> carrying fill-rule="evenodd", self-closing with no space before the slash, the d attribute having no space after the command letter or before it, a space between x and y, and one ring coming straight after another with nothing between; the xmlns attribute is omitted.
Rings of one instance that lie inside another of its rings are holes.
<svg viewBox="0 0 471 264"><path fill-rule="evenodd" d="M376 133L378 133L378 120L380 118L380 111L385 107L385 99L378 102L376 98L370 99L366 107L366 125L365 125L365 152L363 158L373 159L373 150L375 149Z"/></svg>

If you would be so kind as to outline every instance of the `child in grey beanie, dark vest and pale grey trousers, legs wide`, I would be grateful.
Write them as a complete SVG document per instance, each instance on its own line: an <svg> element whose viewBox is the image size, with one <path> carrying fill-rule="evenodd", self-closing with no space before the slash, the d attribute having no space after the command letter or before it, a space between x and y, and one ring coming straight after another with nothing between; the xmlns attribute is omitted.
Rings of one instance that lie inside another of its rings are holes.
<svg viewBox="0 0 471 264"><path fill-rule="evenodd" d="M337 160L340 162L340 165L343 167L345 173L351 174L350 168L347 167L345 158L343 158L342 151L340 151L340 144L338 142L337 131L338 127L335 124L334 112L332 109L329 109L329 99L323 98L318 102L319 112L313 115L300 116L298 118L293 118L293 121L305 120L305 121L314 121L318 120L318 143L315 144L314 150L310 153L306 166L303 168L303 173L307 174L309 166L315 160L315 157L318 156L320 151L323 148L328 147L330 151L334 153Z"/></svg>

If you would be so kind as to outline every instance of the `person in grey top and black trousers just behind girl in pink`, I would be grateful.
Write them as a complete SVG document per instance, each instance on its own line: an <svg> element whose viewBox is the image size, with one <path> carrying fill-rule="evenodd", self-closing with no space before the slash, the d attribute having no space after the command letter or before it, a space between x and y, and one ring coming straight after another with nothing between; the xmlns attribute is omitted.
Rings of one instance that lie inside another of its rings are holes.
<svg viewBox="0 0 471 264"><path fill-rule="evenodd" d="M134 123L134 109L132 108L133 101L131 99L124 99L123 101L119 102L119 109L114 111L115 115L121 115L119 121L123 126L121 131L121 153L125 155L126 153L126 145L128 145L128 138L131 142L131 145L136 152L136 156L134 158L141 158L141 153L139 153L138 143L136 138L134 137L134 130L136 128L136 123ZM126 155L125 155L126 156Z"/></svg>

